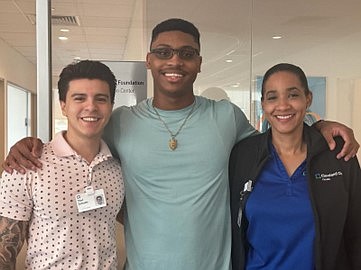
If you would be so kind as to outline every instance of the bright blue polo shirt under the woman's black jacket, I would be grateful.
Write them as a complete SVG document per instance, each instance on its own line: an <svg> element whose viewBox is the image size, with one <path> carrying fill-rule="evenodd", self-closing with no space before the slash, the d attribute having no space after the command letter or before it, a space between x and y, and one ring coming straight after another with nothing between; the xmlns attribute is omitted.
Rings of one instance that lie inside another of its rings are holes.
<svg viewBox="0 0 361 270"><path fill-rule="evenodd" d="M247 200L250 250L247 270L314 269L315 225L306 179L306 161L291 177L271 147L272 158Z"/></svg>

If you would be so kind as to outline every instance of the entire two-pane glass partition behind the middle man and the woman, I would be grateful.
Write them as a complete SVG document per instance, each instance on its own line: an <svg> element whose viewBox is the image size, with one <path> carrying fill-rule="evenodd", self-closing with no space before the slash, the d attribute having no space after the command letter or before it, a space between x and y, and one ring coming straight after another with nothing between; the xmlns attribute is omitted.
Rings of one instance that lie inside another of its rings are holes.
<svg viewBox="0 0 361 270"><path fill-rule="evenodd" d="M196 94L229 98L258 127L262 75L277 63L293 63L308 76L311 109L352 127L361 141L360 9L355 0L170 0L167 5L156 0L147 4L146 20L148 36L169 17L199 28L203 64Z"/></svg>

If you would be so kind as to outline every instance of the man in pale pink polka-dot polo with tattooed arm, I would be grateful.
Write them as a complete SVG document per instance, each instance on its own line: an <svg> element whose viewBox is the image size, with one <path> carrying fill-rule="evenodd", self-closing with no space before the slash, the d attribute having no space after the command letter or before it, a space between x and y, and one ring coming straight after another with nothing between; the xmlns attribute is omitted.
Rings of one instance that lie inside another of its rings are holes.
<svg viewBox="0 0 361 270"><path fill-rule="evenodd" d="M68 65L58 82L66 131L44 144L41 170L0 180L0 269L117 269L115 225L124 199L118 160L101 136L116 80L98 61Z"/></svg>

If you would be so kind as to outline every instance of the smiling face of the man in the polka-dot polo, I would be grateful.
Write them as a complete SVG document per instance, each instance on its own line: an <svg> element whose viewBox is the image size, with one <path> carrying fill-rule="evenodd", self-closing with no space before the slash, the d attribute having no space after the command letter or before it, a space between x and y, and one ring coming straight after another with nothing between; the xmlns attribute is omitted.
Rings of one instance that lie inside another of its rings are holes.
<svg viewBox="0 0 361 270"><path fill-rule="evenodd" d="M73 145L84 139L96 142L113 109L109 85L99 79L72 80L60 106L68 119L68 142Z"/></svg>

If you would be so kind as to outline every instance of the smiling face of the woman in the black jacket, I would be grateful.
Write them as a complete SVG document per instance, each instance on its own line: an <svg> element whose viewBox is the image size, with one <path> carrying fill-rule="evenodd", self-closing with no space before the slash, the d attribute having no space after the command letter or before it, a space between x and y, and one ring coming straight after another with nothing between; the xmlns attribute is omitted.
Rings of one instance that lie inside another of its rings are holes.
<svg viewBox="0 0 361 270"><path fill-rule="evenodd" d="M303 119L311 105L312 94L298 76L289 71L273 73L264 82L262 108L272 134L302 132Z"/></svg>

